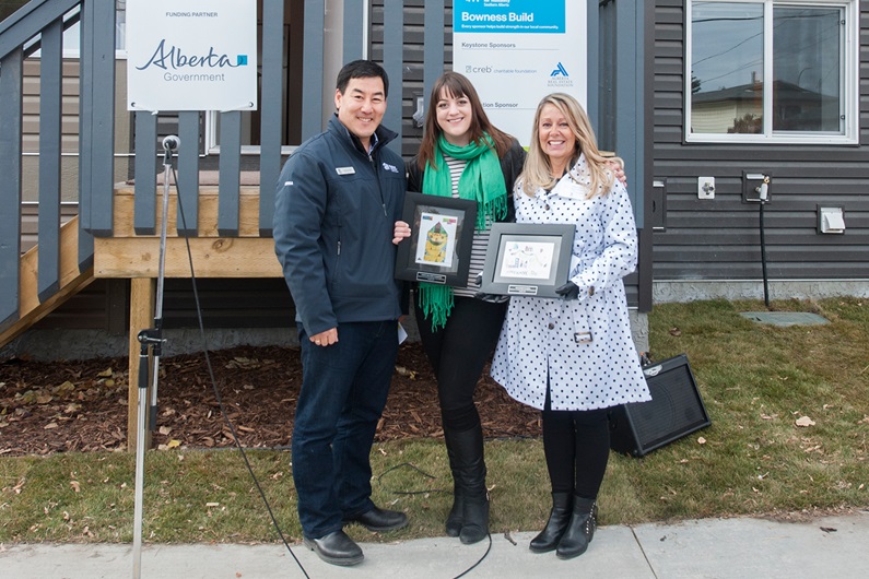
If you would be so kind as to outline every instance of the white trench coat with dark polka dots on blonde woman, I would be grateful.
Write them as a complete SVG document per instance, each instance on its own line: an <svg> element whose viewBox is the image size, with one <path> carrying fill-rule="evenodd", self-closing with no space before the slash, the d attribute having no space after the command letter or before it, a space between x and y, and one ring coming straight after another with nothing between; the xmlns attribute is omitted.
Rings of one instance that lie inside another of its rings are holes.
<svg viewBox="0 0 869 579"><path fill-rule="evenodd" d="M569 280L579 287L579 298L510 297L492 362L492 377L509 395L537 409L545 403L547 377L552 410L650 400L622 283L637 259L631 201L618 180L608 194L586 199L589 185L580 155L552 191L528 197L521 184L514 191L518 223L576 226ZM587 332L590 342L578 341Z"/></svg>

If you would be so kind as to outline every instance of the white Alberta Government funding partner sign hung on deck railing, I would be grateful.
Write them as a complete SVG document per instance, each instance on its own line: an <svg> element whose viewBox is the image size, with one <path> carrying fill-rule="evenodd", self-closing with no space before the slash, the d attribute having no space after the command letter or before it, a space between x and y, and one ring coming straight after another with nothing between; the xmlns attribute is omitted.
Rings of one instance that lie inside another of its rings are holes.
<svg viewBox="0 0 869 579"><path fill-rule="evenodd" d="M255 110L255 0L128 0L128 110Z"/></svg>

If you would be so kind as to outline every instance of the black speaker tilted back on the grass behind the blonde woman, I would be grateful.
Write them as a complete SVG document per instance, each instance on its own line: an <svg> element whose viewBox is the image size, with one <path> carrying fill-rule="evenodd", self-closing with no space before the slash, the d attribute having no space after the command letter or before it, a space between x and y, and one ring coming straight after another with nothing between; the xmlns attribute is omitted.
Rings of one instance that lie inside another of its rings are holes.
<svg viewBox="0 0 869 579"><path fill-rule="evenodd" d="M688 357L643 367L651 400L610 411L610 448L642 457L711 424Z"/></svg>

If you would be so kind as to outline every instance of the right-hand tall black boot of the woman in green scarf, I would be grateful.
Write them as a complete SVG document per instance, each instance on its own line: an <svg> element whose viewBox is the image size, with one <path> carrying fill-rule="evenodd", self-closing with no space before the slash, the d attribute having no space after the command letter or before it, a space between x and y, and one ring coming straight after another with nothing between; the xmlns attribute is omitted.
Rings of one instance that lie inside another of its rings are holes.
<svg viewBox="0 0 869 579"><path fill-rule="evenodd" d="M453 476L459 492L461 530L459 539L466 545L489 535L489 492L485 488L483 429L481 426L462 433L444 429L447 448L455 458ZM455 505L454 505L455 508Z"/></svg>

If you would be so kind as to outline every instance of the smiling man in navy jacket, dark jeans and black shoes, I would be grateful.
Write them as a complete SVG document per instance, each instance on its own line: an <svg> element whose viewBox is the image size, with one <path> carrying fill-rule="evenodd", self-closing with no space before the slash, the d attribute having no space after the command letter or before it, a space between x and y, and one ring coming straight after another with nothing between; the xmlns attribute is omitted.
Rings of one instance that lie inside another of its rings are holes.
<svg viewBox="0 0 869 579"><path fill-rule="evenodd" d="M388 91L380 66L344 66L336 116L289 158L275 200L274 248L302 346L292 447L298 518L305 544L334 565L363 559L345 523L408 523L372 501L368 458L401 315L392 233L407 182L401 157L386 147L397 135L380 127Z"/></svg>

